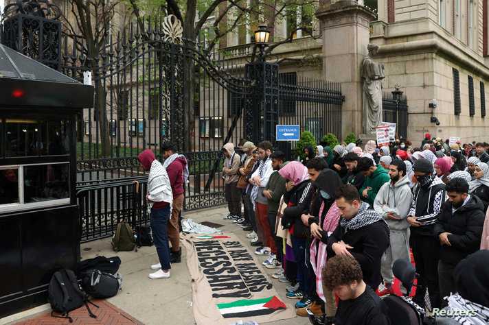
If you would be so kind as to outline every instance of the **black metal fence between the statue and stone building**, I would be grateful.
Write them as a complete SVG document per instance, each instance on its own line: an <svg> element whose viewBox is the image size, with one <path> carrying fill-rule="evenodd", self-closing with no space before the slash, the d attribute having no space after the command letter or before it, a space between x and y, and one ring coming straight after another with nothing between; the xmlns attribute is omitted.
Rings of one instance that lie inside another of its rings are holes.
<svg viewBox="0 0 489 325"><path fill-rule="evenodd" d="M392 93L383 92L382 121L397 123L396 133L407 138L408 106L405 95L401 95L398 99Z"/></svg>

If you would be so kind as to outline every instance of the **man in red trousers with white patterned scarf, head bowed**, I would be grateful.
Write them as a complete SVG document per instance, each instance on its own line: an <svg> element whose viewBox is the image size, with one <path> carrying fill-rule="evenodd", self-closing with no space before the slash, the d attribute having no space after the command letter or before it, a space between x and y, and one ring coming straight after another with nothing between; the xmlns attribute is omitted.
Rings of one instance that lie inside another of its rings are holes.
<svg viewBox="0 0 489 325"><path fill-rule="evenodd" d="M249 182L253 184L250 200L255 206L255 217L257 221L258 239L251 243L252 246L260 246L255 251L257 255L269 254L270 250L265 245L266 239L270 237L269 221L266 219L266 205L269 201L263 196L263 190L269 182L271 173L273 172L270 155L273 152L273 147L270 141L262 141L258 143L258 154L262 157L258 169L251 175ZM271 237L270 237L271 238ZM261 244L260 244L261 242Z"/></svg>

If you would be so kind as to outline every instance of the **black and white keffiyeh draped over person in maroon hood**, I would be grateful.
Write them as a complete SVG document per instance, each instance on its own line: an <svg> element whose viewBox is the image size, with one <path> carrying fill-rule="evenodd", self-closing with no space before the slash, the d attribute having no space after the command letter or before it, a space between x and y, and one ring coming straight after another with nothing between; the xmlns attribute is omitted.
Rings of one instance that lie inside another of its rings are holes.
<svg viewBox="0 0 489 325"><path fill-rule="evenodd" d="M158 160L153 160L151 163L150 175L148 177L148 199L152 202L148 203L148 213L151 213L151 208L154 202L168 202L170 204L170 218L173 204L173 192L170 185L170 178L166 173L166 168L159 163Z"/></svg>

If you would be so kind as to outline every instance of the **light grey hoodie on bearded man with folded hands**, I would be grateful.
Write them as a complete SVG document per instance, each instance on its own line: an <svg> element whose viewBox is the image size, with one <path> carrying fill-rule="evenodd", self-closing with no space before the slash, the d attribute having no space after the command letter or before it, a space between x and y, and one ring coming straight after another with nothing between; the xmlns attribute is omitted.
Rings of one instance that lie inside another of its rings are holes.
<svg viewBox="0 0 489 325"><path fill-rule="evenodd" d="M413 201L413 193L409 188L409 178L402 177L392 186L392 180L383 184L377 193L374 201L374 209L381 215L391 230L405 230L409 228L407 223L407 215L411 202ZM385 205L384 205L385 204ZM387 218L387 213L393 212L394 217L400 220L391 220Z"/></svg>

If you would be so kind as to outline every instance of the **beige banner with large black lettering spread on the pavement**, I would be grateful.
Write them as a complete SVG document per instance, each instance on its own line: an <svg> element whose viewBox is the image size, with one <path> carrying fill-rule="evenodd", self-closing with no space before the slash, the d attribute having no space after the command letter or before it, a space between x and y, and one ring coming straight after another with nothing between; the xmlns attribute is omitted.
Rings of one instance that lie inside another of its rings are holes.
<svg viewBox="0 0 489 325"><path fill-rule="evenodd" d="M295 317L278 298L258 260L231 233L181 234L192 278L196 324L258 324Z"/></svg>

